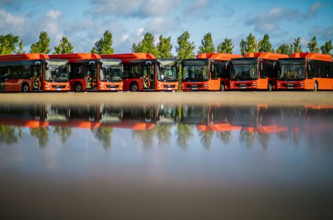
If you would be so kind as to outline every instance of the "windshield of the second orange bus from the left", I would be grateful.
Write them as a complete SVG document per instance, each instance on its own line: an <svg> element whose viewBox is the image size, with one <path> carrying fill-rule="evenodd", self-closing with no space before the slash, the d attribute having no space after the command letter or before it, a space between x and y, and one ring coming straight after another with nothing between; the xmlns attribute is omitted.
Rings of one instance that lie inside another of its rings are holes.
<svg viewBox="0 0 333 220"><path fill-rule="evenodd" d="M107 82L121 82L123 71L121 61L101 60L102 65L99 69L99 80Z"/></svg>

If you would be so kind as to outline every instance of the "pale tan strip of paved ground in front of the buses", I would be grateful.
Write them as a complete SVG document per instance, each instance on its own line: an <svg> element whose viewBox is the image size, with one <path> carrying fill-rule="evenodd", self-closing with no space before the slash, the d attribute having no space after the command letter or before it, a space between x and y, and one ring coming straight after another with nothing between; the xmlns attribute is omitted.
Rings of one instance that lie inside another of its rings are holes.
<svg viewBox="0 0 333 220"><path fill-rule="evenodd" d="M333 92L35 92L0 93L1 103L143 104L187 103L251 105L331 105Z"/></svg>

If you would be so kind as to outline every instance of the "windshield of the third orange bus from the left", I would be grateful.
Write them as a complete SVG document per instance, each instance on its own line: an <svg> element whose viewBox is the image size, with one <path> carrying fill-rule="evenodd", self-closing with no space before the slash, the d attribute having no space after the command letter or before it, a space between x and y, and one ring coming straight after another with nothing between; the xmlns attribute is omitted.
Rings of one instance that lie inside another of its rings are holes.
<svg viewBox="0 0 333 220"><path fill-rule="evenodd" d="M158 71L157 80L159 81L173 81L176 82L177 71L176 71L176 61L175 60L161 60L157 59Z"/></svg>

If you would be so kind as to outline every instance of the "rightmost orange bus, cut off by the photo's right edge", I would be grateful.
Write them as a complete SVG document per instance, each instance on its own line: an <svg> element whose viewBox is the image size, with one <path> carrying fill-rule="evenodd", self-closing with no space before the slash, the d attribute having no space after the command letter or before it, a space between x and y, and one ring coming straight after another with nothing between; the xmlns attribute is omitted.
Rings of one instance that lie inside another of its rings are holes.
<svg viewBox="0 0 333 220"><path fill-rule="evenodd" d="M294 53L279 59L277 89L333 90L332 56L329 54Z"/></svg>

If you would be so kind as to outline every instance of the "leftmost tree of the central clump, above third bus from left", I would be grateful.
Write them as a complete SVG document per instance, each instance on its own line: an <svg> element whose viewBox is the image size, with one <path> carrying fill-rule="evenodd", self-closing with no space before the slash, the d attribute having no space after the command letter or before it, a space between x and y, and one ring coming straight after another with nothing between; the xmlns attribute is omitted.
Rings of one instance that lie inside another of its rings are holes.
<svg viewBox="0 0 333 220"><path fill-rule="evenodd" d="M145 33L143 39L138 44L133 43L132 51L134 53L148 53L158 56L154 35L151 32Z"/></svg>

